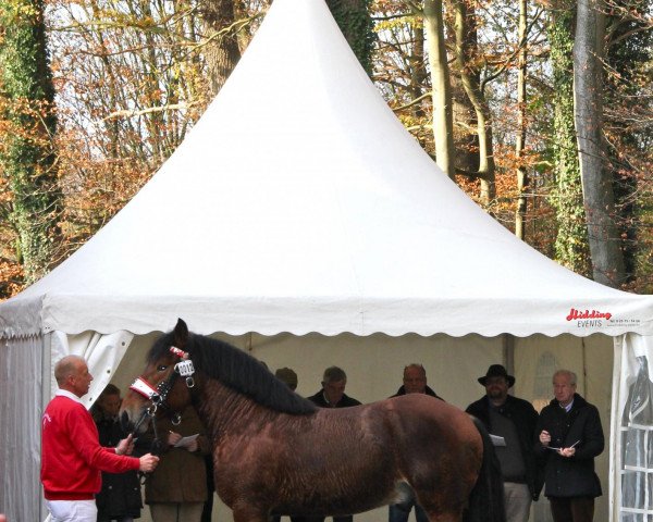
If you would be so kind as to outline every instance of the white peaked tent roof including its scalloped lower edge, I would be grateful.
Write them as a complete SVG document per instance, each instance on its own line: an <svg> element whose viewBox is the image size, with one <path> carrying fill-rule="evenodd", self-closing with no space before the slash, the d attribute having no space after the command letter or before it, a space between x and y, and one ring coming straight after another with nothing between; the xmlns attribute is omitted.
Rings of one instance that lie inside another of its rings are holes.
<svg viewBox="0 0 653 522"><path fill-rule="evenodd" d="M231 334L653 333L651 296L560 268L433 164L322 0L275 0L152 179L0 304L4 336L140 334L177 316Z"/></svg>

